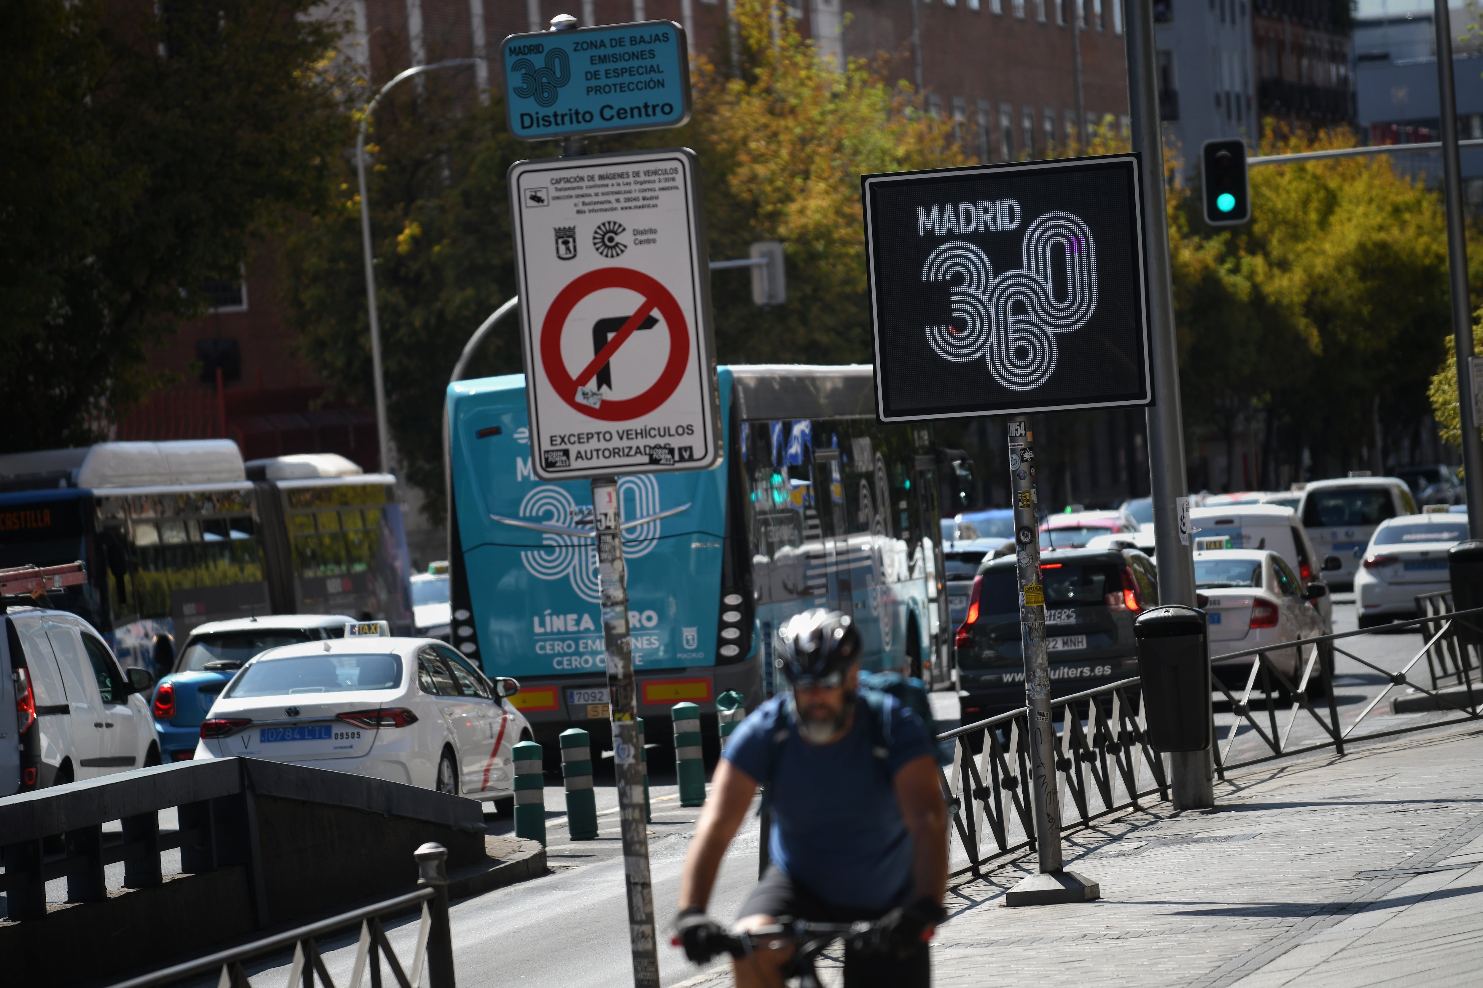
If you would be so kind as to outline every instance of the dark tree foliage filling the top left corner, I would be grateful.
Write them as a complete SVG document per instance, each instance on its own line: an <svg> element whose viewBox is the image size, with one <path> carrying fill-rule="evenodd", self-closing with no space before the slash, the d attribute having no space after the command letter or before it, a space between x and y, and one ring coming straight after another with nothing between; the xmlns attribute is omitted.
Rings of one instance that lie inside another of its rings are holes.
<svg viewBox="0 0 1483 988"><path fill-rule="evenodd" d="M145 350L316 206L346 117L308 0L0 4L0 450L87 443Z"/></svg>

